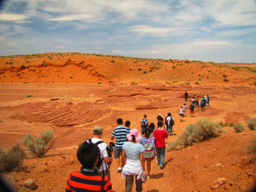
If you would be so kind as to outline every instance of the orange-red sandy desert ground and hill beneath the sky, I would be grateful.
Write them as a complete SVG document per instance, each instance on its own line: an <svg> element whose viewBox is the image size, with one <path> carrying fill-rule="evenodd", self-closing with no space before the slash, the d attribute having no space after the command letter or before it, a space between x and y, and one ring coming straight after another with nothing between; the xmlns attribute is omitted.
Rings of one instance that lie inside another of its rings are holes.
<svg viewBox="0 0 256 192"><path fill-rule="evenodd" d="M173 135L177 140L185 127L207 117L219 122L240 122L245 130L225 133L187 148L166 152L163 170L151 164L151 178L143 191L248 191L255 184L256 166L247 146L255 131L246 121L256 117L256 65L212 63L189 60L161 60L84 53L42 53L2 56L0 58L0 147L8 150L27 132L37 136L46 129L54 133L54 146L42 158L28 152L16 173L17 184L36 181L36 191L64 191L69 174L80 170L76 149L92 137L92 128L100 125L103 138L110 142L116 119L131 121L140 130L147 114L156 124L156 116L172 113ZM184 93L188 92L188 101ZM209 94L210 106L190 117L186 111L179 121L179 108L197 96ZM32 97L28 97L31 95ZM25 147L24 147L25 149ZM215 165L221 163L220 167ZM110 166L113 191L125 191L125 181ZM226 183L217 189L218 178ZM22 186L20 186L23 190ZM133 186L135 191L135 183Z"/></svg>

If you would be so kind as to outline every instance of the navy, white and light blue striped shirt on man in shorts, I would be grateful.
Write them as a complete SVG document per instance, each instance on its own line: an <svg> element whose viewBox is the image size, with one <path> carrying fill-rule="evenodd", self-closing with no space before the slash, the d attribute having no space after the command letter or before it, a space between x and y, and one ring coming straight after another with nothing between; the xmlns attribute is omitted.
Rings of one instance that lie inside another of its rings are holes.
<svg viewBox="0 0 256 192"><path fill-rule="evenodd" d="M116 127L113 130L112 136L116 137L116 146L115 146L115 148L117 148L117 149L122 149L123 148L123 144L126 140L126 135L128 135L129 132L130 132L130 129L124 127L123 125L119 125L118 127Z"/></svg>

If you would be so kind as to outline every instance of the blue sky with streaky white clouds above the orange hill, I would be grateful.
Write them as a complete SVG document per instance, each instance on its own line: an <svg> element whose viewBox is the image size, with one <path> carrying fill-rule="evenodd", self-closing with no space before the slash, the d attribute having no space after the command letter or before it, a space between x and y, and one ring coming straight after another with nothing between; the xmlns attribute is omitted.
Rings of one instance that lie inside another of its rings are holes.
<svg viewBox="0 0 256 192"><path fill-rule="evenodd" d="M256 0L6 0L0 55L256 62Z"/></svg>

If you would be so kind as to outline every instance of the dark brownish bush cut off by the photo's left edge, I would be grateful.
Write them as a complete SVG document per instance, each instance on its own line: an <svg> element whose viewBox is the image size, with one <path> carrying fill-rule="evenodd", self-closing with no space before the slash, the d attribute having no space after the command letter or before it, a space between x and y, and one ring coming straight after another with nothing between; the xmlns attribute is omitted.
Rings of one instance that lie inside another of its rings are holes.
<svg viewBox="0 0 256 192"><path fill-rule="evenodd" d="M16 144L7 152L0 148L0 172L12 171L23 164L24 151Z"/></svg>

